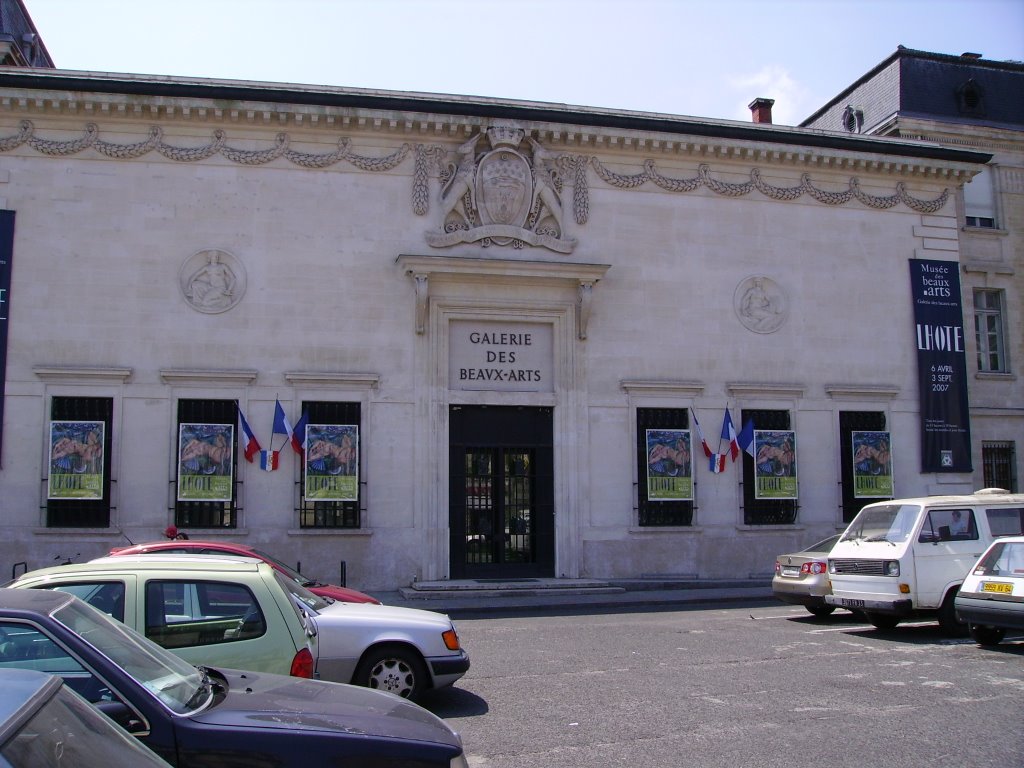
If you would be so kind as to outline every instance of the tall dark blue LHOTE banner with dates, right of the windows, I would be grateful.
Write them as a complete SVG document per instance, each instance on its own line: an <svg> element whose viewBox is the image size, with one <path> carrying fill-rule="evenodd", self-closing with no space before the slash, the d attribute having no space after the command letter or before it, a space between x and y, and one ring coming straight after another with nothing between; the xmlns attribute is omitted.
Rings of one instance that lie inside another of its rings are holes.
<svg viewBox="0 0 1024 768"><path fill-rule="evenodd" d="M910 259L922 472L973 471L957 269L955 261Z"/></svg>

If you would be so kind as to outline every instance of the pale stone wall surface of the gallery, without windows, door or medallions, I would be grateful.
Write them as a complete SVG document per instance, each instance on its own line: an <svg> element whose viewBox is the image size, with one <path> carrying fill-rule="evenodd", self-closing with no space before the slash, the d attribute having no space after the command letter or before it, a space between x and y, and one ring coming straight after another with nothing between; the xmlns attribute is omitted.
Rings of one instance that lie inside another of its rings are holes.
<svg viewBox="0 0 1024 768"><path fill-rule="evenodd" d="M15 134L27 117L25 108L5 103L0 136ZM330 152L345 136L353 153L375 158L404 142L454 150L473 128L458 118L426 135L401 121L309 128L279 109L288 117L232 123L198 120L195 104L187 118L180 106L141 118L43 102L31 119L36 135L50 140L70 141L95 122L110 142L140 141L159 125L168 143L198 146L219 127L232 146L266 148L286 131L303 152ZM717 148L682 142L668 151L664 138L655 145L638 131L617 131L611 141L609 130L581 146L550 126L522 127L553 152L599 157L624 175L653 159L664 175L691 178L708 163L715 178L732 183L757 168L776 186L797 186L809 173L822 189L842 191L856 177L868 195L893 195L904 182L911 196L932 200L967 169L886 167L870 156L799 145L776 157L777 147L741 141L729 152L724 140ZM591 170L586 223L568 214L571 183L562 194L565 234L578 241L571 254L478 244L434 249L424 240L434 219L412 209L414 171L413 154L391 170L370 172L348 163L307 169L285 158L248 166L221 155L186 163L157 153L112 159L94 148L52 157L29 144L0 152L0 197L17 212L0 568L42 566L55 555L84 559L125 538L159 538L173 521L180 397L239 399L264 447L278 398L293 422L303 399L361 403L360 530L299 528L298 463L286 449L275 473L239 463L238 529L189 532L256 544L324 580L336 580L345 561L349 585L368 591L446 575L452 403L555 407L559 575L767 575L778 552L842 526L841 410L886 412L900 495L970 486L970 478L919 471L907 260L957 259L955 240L929 238L932 229L955 227L951 202L925 215L903 204L830 206L807 195L728 197L706 186L670 193L650 181L621 188ZM438 189L433 174L432 213ZM182 263L209 249L238 259L247 283L238 305L214 314L193 309L179 289ZM397 262L402 255L506 259L526 271L532 262L607 268L593 288L586 339L574 314L577 283L538 274L434 274L429 322L417 334L414 283ZM737 285L753 275L785 291L788 312L774 333L748 331L734 310ZM449 319L464 316L552 323L555 391L449 390L443 331ZM624 386L630 381L664 386ZM48 398L85 394L114 398L112 527L47 529ZM791 412L798 523L742 525L739 465L712 475L696 462L692 528L638 527L635 409L693 408L717 447L727 402L737 421L742 408Z"/></svg>

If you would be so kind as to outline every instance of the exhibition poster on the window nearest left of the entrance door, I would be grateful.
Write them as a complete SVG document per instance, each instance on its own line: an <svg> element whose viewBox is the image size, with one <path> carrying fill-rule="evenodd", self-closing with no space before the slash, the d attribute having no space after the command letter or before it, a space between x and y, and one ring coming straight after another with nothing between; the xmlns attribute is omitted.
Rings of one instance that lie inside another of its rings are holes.
<svg viewBox="0 0 1024 768"><path fill-rule="evenodd" d="M354 502L359 498L359 428L354 424L306 425L308 501Z"/></svg>

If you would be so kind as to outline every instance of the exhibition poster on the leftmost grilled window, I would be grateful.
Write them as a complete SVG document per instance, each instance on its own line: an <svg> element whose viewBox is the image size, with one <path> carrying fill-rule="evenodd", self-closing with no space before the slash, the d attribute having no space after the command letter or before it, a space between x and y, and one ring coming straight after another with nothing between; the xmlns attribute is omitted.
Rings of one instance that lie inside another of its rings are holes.
<svg viewBox="0 0 1024 768"><path fill-rule="evenodd" d="M103 498L101 421L50 422L49 499Z"/></svg>

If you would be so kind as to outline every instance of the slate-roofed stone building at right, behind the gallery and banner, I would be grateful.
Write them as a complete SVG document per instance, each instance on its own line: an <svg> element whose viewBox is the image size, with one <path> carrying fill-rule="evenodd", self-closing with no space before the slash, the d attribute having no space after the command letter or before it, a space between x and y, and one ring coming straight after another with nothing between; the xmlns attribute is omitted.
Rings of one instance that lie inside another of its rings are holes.
<svg viewBox="0 0 1024 768"><path fill-rule="evenodd" d="M990 153L957 190L975 487L1024 476L1024 62L900 47L805 127ZM970 322L973 319L973 324Z"/></svg>

